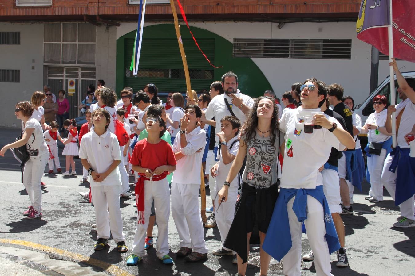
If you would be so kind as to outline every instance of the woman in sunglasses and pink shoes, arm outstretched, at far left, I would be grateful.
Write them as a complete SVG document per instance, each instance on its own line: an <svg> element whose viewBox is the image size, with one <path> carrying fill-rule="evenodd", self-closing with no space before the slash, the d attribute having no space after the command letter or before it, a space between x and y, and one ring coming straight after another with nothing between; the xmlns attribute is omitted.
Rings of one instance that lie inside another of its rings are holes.
<svg viewBox="0 0 415 276"><path fill-rule="evenodd" d="M43 94L43 92L41 92ZM39 108L38 108L39 109ZM29 195L31 206L23 212L27 218L42 216L42 190L40 180L49 159L49 150L43 137L39 120L33 117L34 107L28 101L17 103L15 115L22 120L22 139L5 145L0 156L4 156L7 149L14 149L26 144L29 160L24 164L23 185Z"/></svg>

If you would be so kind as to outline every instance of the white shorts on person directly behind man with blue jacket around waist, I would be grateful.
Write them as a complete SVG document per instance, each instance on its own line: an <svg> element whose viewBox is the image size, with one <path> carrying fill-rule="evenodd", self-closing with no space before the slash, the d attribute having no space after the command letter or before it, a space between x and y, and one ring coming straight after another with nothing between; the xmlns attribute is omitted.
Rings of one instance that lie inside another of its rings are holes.
<svg viewBox="0 0 415 276"><path fill-rule="evenodd" d="M323 191L329 204L330 213L342 213L339 174L332 169L324 169L321 174L323 176Z"/></svg>

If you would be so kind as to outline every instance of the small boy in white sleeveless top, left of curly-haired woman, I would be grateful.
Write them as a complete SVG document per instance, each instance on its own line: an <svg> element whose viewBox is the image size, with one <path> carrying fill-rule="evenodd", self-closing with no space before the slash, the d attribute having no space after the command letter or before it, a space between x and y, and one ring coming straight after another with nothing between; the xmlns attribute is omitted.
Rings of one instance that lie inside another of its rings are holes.
<svg viewBox="0 0 415 276"><path fill-rule="evenodd" d="M228 189L228 199L226 202L219 203L219 198L216 197L216 195L220 189L222 189L222 183L226 181L229 170L238 152L238 132L241 127L241 121L234 116L225 116L220 120L220 123L221 131L216 134L217 137L219 137L220 144L218 149L219 162L212 167L210 173L212 177L216 178L215 190L213 192L213 197L215 199L213 206L216 214L217 228L219 228L220 239L223 244L235 215L235 204L238 197L240 181L239 174L230 183L230 187ZM232 250L229 250L226 247L221 247L219 250L213 251L213 255L223 256L233 255L233 253Z"/></svg>

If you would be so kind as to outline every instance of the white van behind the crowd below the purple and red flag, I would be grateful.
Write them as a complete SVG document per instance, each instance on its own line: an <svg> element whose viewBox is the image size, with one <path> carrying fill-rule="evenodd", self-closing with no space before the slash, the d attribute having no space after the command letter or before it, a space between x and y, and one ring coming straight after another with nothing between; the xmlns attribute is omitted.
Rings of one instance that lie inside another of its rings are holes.
<svg viewBox="0 0 415 276"><path fill-rule="evenodd" d="M412 78L415 79L415 72L403 72L402 73L403 77L405 79L407 78ZM400 98L398 97L398 82L396 81L396 75L394 75L395 77L395 104L400 103ZM374 113L375 110L373 108L373 98L376 95L384 95L386 96L386 98L388 99L388 105L386 105L386 108L390 105L391 103L391 92L390 92L390 76L388 76L371 94L369 97L366 98L366 100L363 101L363 103L358 104L354 107L354 112L356 114L358 114L360 116L360 118L362 119L362 125L364 125L364 123L366 122L367 118L369 117L369 115L371 113Z"/></svg>

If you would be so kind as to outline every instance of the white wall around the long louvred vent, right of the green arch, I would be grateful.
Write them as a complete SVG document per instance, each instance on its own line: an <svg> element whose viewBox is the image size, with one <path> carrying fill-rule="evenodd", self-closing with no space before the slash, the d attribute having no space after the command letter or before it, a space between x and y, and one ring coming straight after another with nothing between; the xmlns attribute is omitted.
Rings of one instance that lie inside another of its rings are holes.
<svg viewBox="0 0 415 276"><path fill-rule="evenodd" d="M154 23L144 26L151 24ZM291 90L291 84L303 82L309 77L317 77L326 84L342 84L345 95L352 96L355 103L360 103L369 95L371 46L356 38L355 22L287 23L281 29L278 29L278 24L270 22L192 22L190 25L212 31L230 42L233 38L352 39L350 60L294 58L252 58L252 60L264 73L272 86L271 89L278 96L286 90ZM321 32L319 28L322 28ZM122 23L117 27L117 39L136 29L137 23ZM187 28L182 31L187 31ZM216 60L215 63L220 65L220 60ZM415 63L399 62L400 67L404 65L403 71L415 71ZM388 62L381 60L379 83L388 75Z"/></svg>

